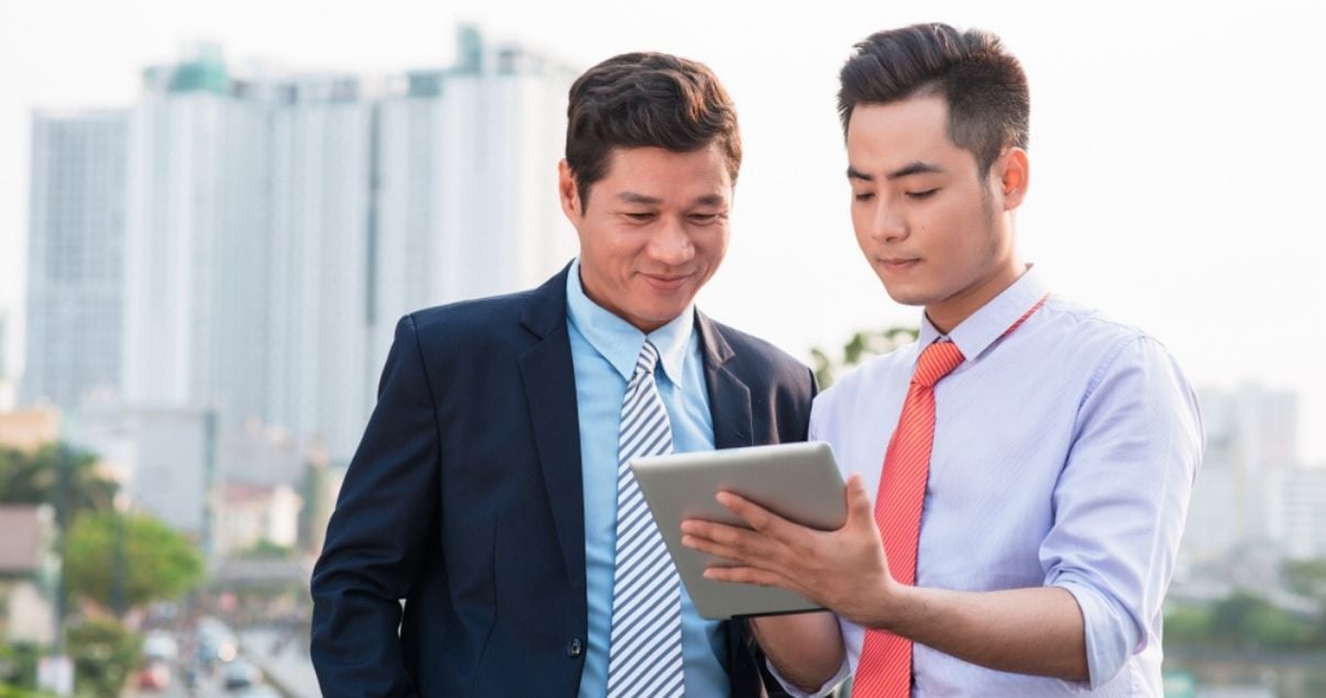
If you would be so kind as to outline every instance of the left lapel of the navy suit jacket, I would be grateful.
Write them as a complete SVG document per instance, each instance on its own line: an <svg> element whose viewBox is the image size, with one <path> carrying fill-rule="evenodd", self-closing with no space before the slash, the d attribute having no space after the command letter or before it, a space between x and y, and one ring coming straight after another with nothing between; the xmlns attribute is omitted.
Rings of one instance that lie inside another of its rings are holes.
<svg viewBox="0 0 1326 698"><path fill-rule="evenodd" d="M520 356L548 503L572 587L585 589L585 490L581 482L575 370L566 331L566 270L533 291L521 324L538 343ZM578 597L583 599L583 593Z"/></svg>

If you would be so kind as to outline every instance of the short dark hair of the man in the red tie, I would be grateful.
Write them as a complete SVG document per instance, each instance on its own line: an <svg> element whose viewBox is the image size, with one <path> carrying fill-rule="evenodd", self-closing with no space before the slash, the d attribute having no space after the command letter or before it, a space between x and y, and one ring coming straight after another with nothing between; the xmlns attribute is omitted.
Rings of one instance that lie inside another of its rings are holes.
<svg viewBox="0 0 1326 698"><path fill-rule="evenodd" d="M948 102L949 140L976 158L983 180L1004 148L1026 148L1026 74L989 32L937 23L879 32L857 44L839 81L843 135L858 105L937 94Z"/></svg>

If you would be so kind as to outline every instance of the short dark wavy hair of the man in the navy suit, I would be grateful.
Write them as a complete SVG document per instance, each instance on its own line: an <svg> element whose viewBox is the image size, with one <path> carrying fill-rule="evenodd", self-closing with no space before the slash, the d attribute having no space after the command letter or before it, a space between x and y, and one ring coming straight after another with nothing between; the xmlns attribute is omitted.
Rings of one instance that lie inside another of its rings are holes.
<svg viewBox="0 0 1326 698"><path fill-rule="evenodd" d="M566 164L581 204L607 175L614 148L693 152L717 143L736 184L741 168L737 111L704 64L666 53L623 53L581 75L566 107Z"/></svg>

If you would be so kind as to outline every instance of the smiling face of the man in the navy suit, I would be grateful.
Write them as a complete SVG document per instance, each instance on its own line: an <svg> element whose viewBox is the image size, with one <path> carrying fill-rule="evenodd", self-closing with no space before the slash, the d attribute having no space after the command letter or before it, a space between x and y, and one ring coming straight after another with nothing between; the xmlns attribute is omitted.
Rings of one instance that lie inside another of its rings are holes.
<svg viewBox="0 0 1326 698"><path fill-rule="evenodd" d="M716 144L615 148L587 201L562 160L560 192L585 294L642 332L680 315L727 254L732 177Z"/></svg>

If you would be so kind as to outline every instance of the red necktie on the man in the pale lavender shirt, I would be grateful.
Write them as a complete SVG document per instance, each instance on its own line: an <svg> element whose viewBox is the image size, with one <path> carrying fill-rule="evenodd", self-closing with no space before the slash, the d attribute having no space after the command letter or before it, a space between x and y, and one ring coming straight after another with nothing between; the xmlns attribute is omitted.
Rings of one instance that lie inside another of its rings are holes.
<svg viewBox="0 0 1326 698"><path fill-rule="evenodd" d="M1045 305L1042 297L1001 338L1017 330ZM963 352L952 342L935 342L916 360L898 417L884 470L875 497L875 524L884 539L888 571L899 584L916 584L916 546L920 540L920 514L930 479L930 453L935 445L935 384L963 363ZM907 698L911 695L912 642L888 630L866 629L866 642L857 662L851 694L855 698Z"/></svg>

